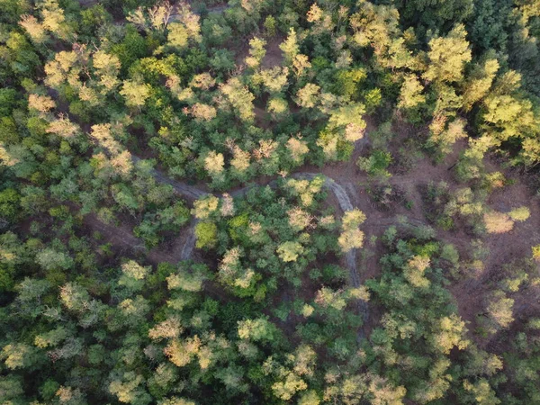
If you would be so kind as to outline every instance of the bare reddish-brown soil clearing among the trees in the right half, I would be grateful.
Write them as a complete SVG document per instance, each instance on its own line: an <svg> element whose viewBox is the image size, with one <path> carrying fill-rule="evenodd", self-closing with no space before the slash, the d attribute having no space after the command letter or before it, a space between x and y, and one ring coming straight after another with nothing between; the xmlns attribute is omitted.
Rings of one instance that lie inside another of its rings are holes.
<svg viewBox="0 0 540 405"><path fill-rule="evenodd" d="M368 122L366 132L370 133L372 130L374 130L374 124ZM401 139L398 139L396 143L402 144L403 132L401 132L401 137L398 138ZM451 191L467 186L466 184L458 184L455 181L453 171L450 170L460 153L466 148L467 142L465 139L456 142L452 153L448 154L438 165L435 165L428 158L422 158L408 173L392 175L387 183L399 186L406 193L406 199L411 202L411 207L410 210L407 210L402 205L395 206L390 211L377 210L371 202L367 192L367 185L373 182L373 179L370 179L356 168L356 159L361 155L366 142L360 140L357 144L355 153L349 162L330 164L323 168L308 167L307 169L319 171L345 186L351 194L351 199L356 204L356 207L365 212L367 220L362 226L365 231L365 247L363 252L358 255L358 273L361 282L364 283L365 280L380 275L378 262L384 254L382 243L375 241L374 244L370 244L370 238L379 238L385 229L396 222L397 215L403 215L409 220L428 224L425 215L426 207L424 207L422 195L419 191L420 185L428 184L430 181L436 183L445 181L449 184ZM390 149L392 154L396 152L392 145ZM485 158L485 165L490 172L502 171L499 166L491 161L491 157ZM305 168L302 168L302 170L305 170ZM530 257L531 247L540 244L540 204L538 200L528 190L527 185L523 184L516 175L513 175L509 170L503 172L507 178L513 178L515 184L507 185L491 193L487 204L494 210L505 212L520 206L527 206L531 216L525 222L516 222L514 229L508 233L499 235L485 234L481 239L484 247L489 247L490 254L484 261L482 275L479 275L476 280L464 279L450 287L451 293L455 296L459 314L462 319L468 322L470 331L473 331L477 326L477 314L484 312L485 302L483 297L492 290L493 285L490 280L497 275L501 266L519 257ZM444 243L453 244L458 249L462 259L470 256L472 237L467 235L464 229L453 231L437 229L437 238ZM536 291L529 294L533 294L536 299L525 300L513 297L516 300L514 306L515 317L518 317L520 312L536 314L540 312L540 293ZM370 312L370 325L366 328L368 330L374 326L379 318L375 309L371 308ZM479 340L477 336L473 336L473 338Z"/></svg>

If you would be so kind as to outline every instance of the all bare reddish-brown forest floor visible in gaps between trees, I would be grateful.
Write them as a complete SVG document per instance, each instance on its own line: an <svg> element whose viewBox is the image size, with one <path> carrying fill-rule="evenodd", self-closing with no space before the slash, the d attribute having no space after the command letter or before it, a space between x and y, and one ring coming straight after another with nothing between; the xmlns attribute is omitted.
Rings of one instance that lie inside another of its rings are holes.
<svg viewBox="0 0 540 405"><path fill-rule="evenodd" d="M360 139L356 143L356 148L353 157L347 162L339 162L328 164L323 167L317 166L302 166L296 172L297 174L305 173L320 173L333 179L347 193L347 199L350 199L353 207L365 212L367 220L362 225L365 231L365 247L360 250L360 254L356 256L356 268L359 276L359 282L364 283L369 278L374 278L380 275L379 260L384 254L383 243L380 237L385 229L389 226L400 223L401 218L406 218L409 223L417 225L428 225L427 212L428 207L422 198L422 187L429 182L444 181L449 185L452 191L464 184L458 184L455 181L453 171L450 169L455 165L460 153L466 147L466 142L459 141L455 144L452 153L448 154L445 159L435 165L428 157L421 157L416 160L410 170L405 173L393 173L388 179L374 179L361 173L356 167L356 159L362 155L365 148L369 147L370 134L374 133L374 122L367 119L368 126L365 133L365 138ZM398 137L399 138L399 137ZM397 139L398 143L400 139ZM391 147L392 149L392 147ZM497 171L496 166L491 157L486 157L485 165L488 171ZM517 176L517 173L507 169L503 170L507 178L511 178L513 184L507 185L501 189L495 190L489 196L488 205L498 211L510 211L519 206L527 206L531 211L530 218L525 222L516 222L514 229L508 233L483 236L482 243L484 247L489 248L489 255L484 260L483 271L480 274L474 275L473 278L465 277L463 281L459 281L449 287L451 293L454 294L458 306L459 314L462 319L468 322L468 328L473 331L476 329L477 314L482 313L485 306L483 297L492 289L491 280L496 280L500 272L501 266L509 263L512 259L518 257L529 257L530 249L540 243L540 205L538 200L533 196L527 187ZM203 193L208 193L204 187L197 189L196 186L187 186L184 190L184 184L175 182L169 179L161 172L156 172L158 181L172 184L175 190L187 197L190 201L193 198L200 196ZM259 178L258 184L268 184L271 179ZM394 203L392 207L382 209L377 206L370 196L369 190L373 184L377 182L390 184L392 187L398 187L405 194L404 203ZM237 189L236 192L241 192L242 189ZM184 193L185 192L185 193ZM186 194L187 193L187 194ZM199 194L199 195L198 195ZM335 205L341 210L337 195L329 193L329 203ZM104 225L95 215L87 215L85 217L85 225L94 230L99 230L104 238L112 243L115 247L121 248L121 251L131 250L132 254L141 255L145 252L142 242L139 238L135 238L130 226L125 224L117 224L117 226ZM465 229L457 227L455 230L440 230L437 229L437 239L445 244L454 245L460 253L460 257L465 260L471 256L471 243L475 237L469 235ZM177 263L181 259L191 257L194 244L193 238L193 223L192 226L186 227L183 232L173 238L167 238L160 247L146 251L145 257L149 263L157 265L161 262ZM187 249L187 251L186 251ZM195 250L195 257L202 258L200 252ZM218 290L211 286L212 290ZM212 294L219 292L214 291ZM537 294L532 294L537 297ZM521 311L515 313L514 316L519 321L519 315L526 315L529 311L537 311L540 307L537 298L527 301L524 297L516 298L516 310ZM365 326L367 333L378 323L379 317L376 308L370 306L369 323ZM472 335L473 336L473 335ZM476 340L479 338L474 336ZM482 342L478 342L482 344ZM483 342L487 344L488 342Z"/></svg>

